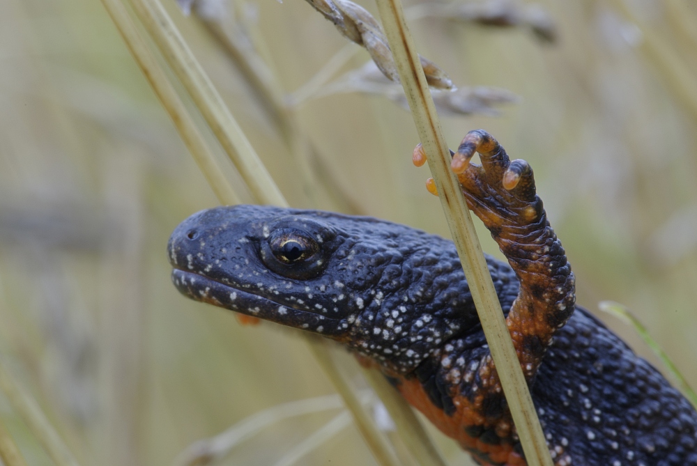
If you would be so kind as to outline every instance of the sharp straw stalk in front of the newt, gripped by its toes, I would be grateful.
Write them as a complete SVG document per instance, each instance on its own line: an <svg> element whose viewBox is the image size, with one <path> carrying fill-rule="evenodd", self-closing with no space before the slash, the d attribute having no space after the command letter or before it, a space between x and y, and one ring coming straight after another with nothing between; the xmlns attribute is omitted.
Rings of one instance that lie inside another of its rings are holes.
<svg viewBox="0 0 697 466"><path fill-rule="evenodd" d="M377 0L383 27L395 56L399 78L406 93L414 123L436 181L450 233L470 284L482 329L511 410L528 465L552 466L535 405L513 348L496 290L484 261L482 246L457 179L450 170L447 148L436 107L419 63L413 38L404 20L399 0Z"/></svg>

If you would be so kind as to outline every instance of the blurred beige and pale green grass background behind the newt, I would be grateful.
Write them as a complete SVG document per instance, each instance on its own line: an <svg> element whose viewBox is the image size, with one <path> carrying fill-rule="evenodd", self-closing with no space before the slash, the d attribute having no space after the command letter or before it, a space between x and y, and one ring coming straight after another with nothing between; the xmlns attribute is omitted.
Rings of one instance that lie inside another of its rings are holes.
<svg viewBox="0 0 697 466"><path fill-rule="evenodd" d="M346 43L300 0L240 5L288 93ZM553 45L523 29L412 24L420 52L456 84L520 97L498 118L443 118L445 135L454 147L481 127L528 160L579 304L627 305L696 386L697 8L542 5ZM291 205L311 205L254 90L200 22L166 6ZM360 51L343 70L367 59ZM6 0L0 63L0 352L82 465L169 465L259 410L332 392L289 332L240 327L171 286L169 233L215 196L100 2ZM297 116L353 210L447 235L427 171L411 165L418 140L404 109L347 93L309 100ZM319 205L336 209L325 194ZM657 364L631 329L600 317ZM273 465L335 414L279 422L220 464ZM52 464L2 398L0 417L30 465ZM471 464L438 442L452 465ZM349 427L296 464L374 460Z"/></svg>

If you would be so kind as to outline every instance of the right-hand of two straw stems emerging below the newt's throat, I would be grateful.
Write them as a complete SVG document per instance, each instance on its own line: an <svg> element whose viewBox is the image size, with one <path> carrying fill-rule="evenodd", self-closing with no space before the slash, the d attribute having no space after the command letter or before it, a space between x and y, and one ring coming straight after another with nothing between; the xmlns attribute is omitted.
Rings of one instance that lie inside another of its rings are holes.
<svg viewBox="0 0 697 466"><path fill-rule="evenodd" d="M374 368L364 368L363 375L383 401L392 421L395 422L399 437L404 440L406 448L416 462L420 466L446 466L447 463L441 457L441 453L438 453L438 448L411 406L401 396L395 396L395 387L390 385L385 376Z"/></svg>

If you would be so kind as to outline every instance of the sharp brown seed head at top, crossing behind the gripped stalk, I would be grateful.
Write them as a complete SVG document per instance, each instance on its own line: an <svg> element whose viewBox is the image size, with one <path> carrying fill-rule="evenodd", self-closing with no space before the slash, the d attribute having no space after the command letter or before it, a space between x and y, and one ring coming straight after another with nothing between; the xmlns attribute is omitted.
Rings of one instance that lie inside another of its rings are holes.
<svg viewBox="0 0 697 466"><path fill-rule="evenodd" d="M307 0L307 3L334 23L344 37L365 47L386 77L399 82L399 73L383 29L365 8L349 0ZM438 65L422 56L419 59L429 86L437 89L453 87L450 78Z"/></svg>

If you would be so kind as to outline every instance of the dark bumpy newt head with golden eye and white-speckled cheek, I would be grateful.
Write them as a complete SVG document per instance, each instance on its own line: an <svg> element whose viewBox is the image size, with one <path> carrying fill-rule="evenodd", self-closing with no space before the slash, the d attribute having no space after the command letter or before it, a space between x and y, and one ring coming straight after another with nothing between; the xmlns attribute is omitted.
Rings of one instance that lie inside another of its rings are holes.
<svg viewBox="0 0 697 466"><path fill-rule="evenodd" d="M369 217L213 208L168 251L187 297L328 336L397 373L478 323L452 243Z"/></svg>

